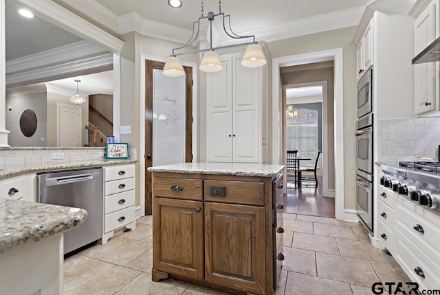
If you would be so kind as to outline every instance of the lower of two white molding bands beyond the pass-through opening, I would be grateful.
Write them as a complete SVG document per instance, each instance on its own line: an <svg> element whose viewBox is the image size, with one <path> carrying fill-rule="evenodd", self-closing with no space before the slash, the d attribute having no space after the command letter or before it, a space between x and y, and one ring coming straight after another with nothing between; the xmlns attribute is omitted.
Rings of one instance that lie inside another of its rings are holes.
<svg viewBox="0 0 440 295"><path fill-rule="evenodd" d="M59 77L67 73L74 73L78 71L87 71L89 69L96 69L113 65L113 54L105 54L102 56L95 56L85 60L77 60L74 62L67 62L65 64L57 64L43 69L34 69L23 73L15 73L6 76L6 85L15 85L23 82L38 81L47 78Z"/></svg>

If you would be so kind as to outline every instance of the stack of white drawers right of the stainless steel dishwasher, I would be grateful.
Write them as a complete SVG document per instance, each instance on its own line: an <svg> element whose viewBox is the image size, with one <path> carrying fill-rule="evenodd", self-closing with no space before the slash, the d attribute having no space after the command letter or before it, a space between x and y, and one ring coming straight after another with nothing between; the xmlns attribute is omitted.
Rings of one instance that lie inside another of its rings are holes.
<svg viewBox="0 0 440 295"><path fill-rule="evenodd" d="M104 235L102 244L120 228L135 229L135 165L104 167Z"/></svg>

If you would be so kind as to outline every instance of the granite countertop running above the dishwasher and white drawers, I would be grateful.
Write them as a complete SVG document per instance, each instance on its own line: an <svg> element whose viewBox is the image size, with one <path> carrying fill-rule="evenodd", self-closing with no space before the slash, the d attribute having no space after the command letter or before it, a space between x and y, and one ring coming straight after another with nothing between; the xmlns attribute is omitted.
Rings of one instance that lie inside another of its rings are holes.
<svg viewBox="0 0 440 295"><path fill-rule="evenodd" d="M17 176L20 174L26 174L29 172L42 172L50 170L59 169L73 169L73 168L83 168L83 167L97 167L105 165L121 165L137 163L137 160L91 160L91 161L80 161L76 163L63 163L63 164L53 164L53 163L42 163L39 164L17 164L17 165L6 165L5 169L0 170L0 180L2 178L8 178L10 176Z"/></svg>

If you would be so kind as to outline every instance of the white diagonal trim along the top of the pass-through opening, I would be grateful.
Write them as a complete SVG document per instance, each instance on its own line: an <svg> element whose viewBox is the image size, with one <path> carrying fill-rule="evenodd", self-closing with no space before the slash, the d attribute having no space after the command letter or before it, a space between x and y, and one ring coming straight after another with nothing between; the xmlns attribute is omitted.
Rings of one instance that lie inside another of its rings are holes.
<svg viewBox="0 0 440 295"><path fill-rule="evenodd" d="M65 29L85 40L98 43L98 45L114 53L121 51L124 42L103 29L92 25L80 16L63 8L51 0L15 0L32 10L45 21Z"/></svg>

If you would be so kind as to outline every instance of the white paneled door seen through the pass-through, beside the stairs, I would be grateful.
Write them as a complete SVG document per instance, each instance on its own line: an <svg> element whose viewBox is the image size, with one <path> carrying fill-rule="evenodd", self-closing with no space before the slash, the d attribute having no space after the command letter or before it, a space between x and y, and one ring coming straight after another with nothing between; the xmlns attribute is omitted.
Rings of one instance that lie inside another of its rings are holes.
<svg viewBox="0 0 440 295"><path fill-rule="evenodd" d="M80 147L82 108L70 104L56 104L56 145Z"/></svg>

